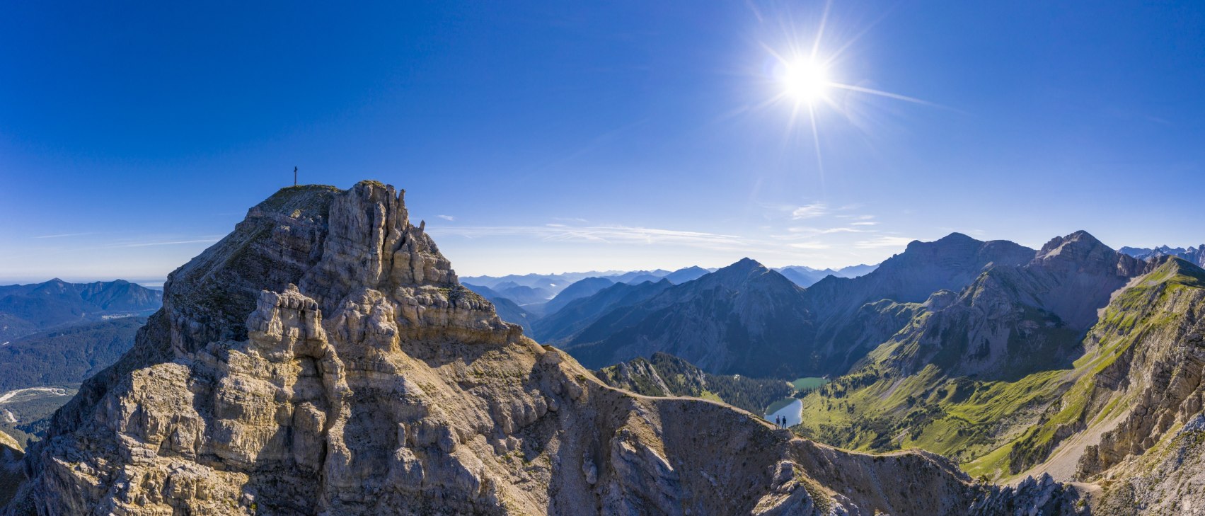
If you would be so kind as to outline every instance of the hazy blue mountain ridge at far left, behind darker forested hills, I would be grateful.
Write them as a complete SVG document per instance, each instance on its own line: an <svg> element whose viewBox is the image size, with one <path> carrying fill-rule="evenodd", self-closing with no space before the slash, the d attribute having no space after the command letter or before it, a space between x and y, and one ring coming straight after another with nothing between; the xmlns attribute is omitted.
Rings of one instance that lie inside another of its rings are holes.
<svg viewBox="0 0 1205 516"><path fill-rule="evenodd" d="M129 281L0 286L0 342L83 322L149 315L163 293Z"/></svg>

